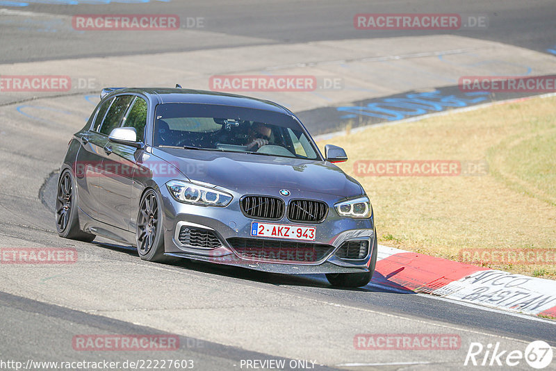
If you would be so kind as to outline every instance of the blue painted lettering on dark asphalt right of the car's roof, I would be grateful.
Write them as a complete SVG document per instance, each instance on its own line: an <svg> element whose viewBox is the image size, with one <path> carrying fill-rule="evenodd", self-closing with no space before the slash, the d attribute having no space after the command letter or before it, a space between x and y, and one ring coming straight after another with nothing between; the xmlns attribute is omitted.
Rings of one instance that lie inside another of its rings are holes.
<svg viewBox="0 0 556 371"><path fill-rule="evenodd" d="M343 106L336 110L347 115L341 119L350 119L357 115L396 121L408 116L425 115L430 111L440 112L451 107L466 107L485 101L489 92L468 92L464 97L456 97L454 94L443 94L440 90L434 92L421 92L406 94L400 98L384 98L373 101L366 106ZM467 98L468 97L468 98Z"/></svg>

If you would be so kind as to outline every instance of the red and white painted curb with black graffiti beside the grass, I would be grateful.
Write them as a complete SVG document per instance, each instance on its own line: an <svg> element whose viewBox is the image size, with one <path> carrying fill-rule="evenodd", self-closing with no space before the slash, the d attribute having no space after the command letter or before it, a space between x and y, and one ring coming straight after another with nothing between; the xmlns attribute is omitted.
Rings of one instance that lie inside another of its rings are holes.
<svg viewBox="0 0 556 371"><path fill-rule="evenodd" d="M372 283L556 318L556 281L512 274L379 245Z"/></svg>

